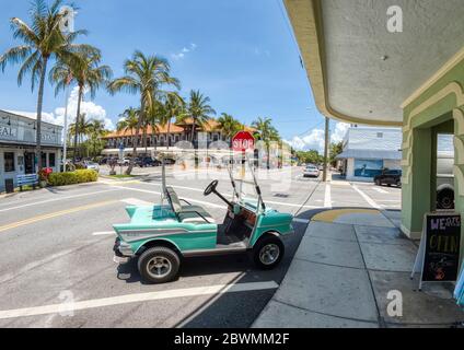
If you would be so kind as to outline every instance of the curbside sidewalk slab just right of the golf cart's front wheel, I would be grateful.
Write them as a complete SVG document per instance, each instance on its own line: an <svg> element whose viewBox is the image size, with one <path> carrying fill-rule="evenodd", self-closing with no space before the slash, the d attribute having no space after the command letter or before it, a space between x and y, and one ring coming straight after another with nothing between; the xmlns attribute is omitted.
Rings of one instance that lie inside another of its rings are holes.
<svg viewBox="0 0 464 350"><path fill-rule="evenodd" d="M297 259L364 269L357 242L304 236Z"/></svg>

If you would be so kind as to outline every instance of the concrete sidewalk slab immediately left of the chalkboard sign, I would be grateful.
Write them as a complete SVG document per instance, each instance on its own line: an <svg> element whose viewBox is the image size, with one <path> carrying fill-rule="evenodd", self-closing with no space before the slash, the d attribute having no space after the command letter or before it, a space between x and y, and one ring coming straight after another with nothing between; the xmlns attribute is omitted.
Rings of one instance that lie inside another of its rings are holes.
<svg viewBox="0 0 464 350"><path fill-rule="evenodd" d="M411 271L417 247L411 243L390 245L360 242L366 266L370 270Z"/></svg>

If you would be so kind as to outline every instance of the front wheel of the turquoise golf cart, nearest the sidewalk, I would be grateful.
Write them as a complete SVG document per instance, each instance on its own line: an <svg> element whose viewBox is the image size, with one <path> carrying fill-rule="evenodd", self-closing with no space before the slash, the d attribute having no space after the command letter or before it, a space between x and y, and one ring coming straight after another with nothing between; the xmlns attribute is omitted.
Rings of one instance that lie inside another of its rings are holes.
<svg viewBox="0 0 464 350"><path fill-rule="evenodd" d="M281 261L285 254L282 241L272 235L263 237L253 248L253 260L263 270L274 269Z"/></svg>

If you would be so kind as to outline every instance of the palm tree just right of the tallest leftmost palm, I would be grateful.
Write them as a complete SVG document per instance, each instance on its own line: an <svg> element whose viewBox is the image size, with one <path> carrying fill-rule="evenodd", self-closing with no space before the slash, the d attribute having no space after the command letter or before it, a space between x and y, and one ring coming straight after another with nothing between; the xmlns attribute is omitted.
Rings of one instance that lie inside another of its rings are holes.
<svg viewBox="0 0 464 350"><path fill-rule="evenodd" d="M108 66L98 66L101 59L101 51L92 48L91 52L79 52L70 58L58 60L50 71L50 82L57 83L55 95L60 90L65 90L71 82L77 83L79 88L77 120L81 115L81 102L84 92L88 90L91 98L94 98L98 88L112 77L112 69ZM79 126L80 122L76 122L74 150L78 145ZM77 152L73 154L73 162L76 162L76 156Z"/></svg>

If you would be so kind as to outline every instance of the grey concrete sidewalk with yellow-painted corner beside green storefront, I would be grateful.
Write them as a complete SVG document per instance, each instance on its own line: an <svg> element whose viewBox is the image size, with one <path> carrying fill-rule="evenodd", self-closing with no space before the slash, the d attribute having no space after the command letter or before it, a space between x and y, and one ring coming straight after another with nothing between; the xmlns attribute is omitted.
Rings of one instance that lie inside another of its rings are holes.
<svg viewBox="0 0 464 350"><path fill-rule="evenodd" d="M452 327L464 313L453 284L409 279L418 242L398 230L401 212L328 210L313 217L280 288L256 328ZM403 295L391 317L388 292Z"/></svg>

